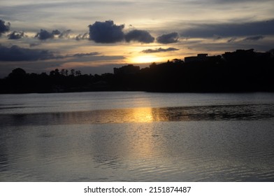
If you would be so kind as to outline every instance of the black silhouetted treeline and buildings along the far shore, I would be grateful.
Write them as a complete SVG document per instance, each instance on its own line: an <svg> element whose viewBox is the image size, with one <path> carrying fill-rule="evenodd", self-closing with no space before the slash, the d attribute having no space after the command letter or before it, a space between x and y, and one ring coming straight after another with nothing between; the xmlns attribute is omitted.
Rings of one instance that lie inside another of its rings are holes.
<svg viewBox="0 0 274 196"><path fill-rule="evenodd" d="M149 91L149 92L274 92L274 56L270 52L236 50L152 63L128 65L114 73L82 74L71 69L26 73L17 68L0 80L1 93Z"/></svg>

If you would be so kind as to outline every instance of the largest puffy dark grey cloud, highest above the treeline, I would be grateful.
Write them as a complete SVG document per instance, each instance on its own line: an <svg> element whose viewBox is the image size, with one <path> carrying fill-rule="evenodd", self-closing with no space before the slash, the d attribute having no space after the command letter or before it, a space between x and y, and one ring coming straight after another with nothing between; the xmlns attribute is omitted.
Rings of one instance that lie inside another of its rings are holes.
<svg viewBox="0 0 274 196"><path fill-rule="evenodd" d="M96 43L116 43L124 40L124 25L115 25L113 20L89 25L89 40Z"/></svg>

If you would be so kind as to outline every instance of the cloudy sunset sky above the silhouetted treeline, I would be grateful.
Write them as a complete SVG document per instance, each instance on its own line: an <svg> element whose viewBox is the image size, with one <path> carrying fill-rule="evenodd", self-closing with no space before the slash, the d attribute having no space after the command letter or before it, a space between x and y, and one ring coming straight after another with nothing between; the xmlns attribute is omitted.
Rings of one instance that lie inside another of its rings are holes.
<svg viewBox="0 0 274 196"><path fill-rule="evenodd" d="M0 78L274 48L273 0L1 0Z"/></svg>

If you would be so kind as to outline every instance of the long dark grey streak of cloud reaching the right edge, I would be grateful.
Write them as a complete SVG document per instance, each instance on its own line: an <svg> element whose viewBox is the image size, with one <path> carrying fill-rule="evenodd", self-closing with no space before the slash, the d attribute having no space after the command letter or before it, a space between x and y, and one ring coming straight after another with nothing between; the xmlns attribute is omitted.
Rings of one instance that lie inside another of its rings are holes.
<svg viewBox="0 0 274 196"><path fill-rule="evenodd" d="M208 38L215 35L222 37L274 35L274 20L241 24L200 24L182 31L182 36L189 37Z"/></svg>

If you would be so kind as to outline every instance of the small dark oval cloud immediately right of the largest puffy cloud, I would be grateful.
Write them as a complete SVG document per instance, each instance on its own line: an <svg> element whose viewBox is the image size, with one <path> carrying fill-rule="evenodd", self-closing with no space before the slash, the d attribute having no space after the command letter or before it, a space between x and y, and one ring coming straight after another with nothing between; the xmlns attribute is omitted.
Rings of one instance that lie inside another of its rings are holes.
<svg viewBox="0 0 274 196"><path fill-rule="evenodd" d="M154 37L150 35L148 31L134 29L129 31L124 38L127 42L130 41L138 41L140 43L152 43L154 41Z"/></svg>

